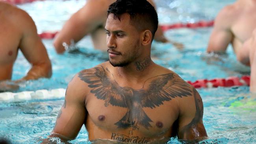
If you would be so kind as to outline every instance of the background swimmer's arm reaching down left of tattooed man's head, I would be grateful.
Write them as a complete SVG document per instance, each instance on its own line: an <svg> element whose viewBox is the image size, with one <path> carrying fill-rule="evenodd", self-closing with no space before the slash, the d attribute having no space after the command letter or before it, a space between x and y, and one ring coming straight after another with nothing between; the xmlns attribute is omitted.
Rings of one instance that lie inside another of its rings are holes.
<svg viewBox="0 0 256 144"><path fill-rule="evenodd" d="M85 35L95 31L105 24L108 4L106 0L87 0L85 6L74 13L65 23L62 30L54 39L54 47L58 54L65 52L63 42L70 45L70 41L80 41Z"/></svg>

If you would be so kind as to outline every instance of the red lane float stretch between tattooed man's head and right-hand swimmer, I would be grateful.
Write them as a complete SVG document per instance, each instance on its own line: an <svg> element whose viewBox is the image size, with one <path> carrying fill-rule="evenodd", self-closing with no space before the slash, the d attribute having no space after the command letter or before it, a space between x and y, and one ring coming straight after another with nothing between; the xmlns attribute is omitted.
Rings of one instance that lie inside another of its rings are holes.
<svg viewBox="0 0 256 144"><path fill-rule="evenodd" d="M163 31L167 31L170 29L177 29L177 28L204 28L204 27L211 27L213 26L214 21L199 21L195 23L177 23L177 24L167 24L167 25L161 25L161 28Z"/></svg>

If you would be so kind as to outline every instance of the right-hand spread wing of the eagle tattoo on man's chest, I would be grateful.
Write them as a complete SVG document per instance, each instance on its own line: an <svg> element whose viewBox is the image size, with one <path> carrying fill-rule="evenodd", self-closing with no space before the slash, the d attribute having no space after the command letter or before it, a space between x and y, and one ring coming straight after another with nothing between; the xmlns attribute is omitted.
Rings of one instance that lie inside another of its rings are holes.
<svg viewBox="0 0 256 144"><path fill-rule="evenodd" d="M142 107L155 108L164 101L170 101L175 97L191 96L191 85L181 78L174 77L174 74L164 74L154 77L152 81L145 81L141 90L135 90L135 94L141 96Z"/></svg>

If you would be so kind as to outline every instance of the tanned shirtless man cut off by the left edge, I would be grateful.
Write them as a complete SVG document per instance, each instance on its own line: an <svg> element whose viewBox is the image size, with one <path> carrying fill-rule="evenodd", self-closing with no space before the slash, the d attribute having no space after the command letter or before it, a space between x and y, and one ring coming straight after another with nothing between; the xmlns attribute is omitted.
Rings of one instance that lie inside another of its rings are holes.
<svg viewBox="0 0 256 144"><path fill-rule="evenodd" d="M11 79L13 63L19 49L32 67L26 76L18 81L51 76L50 59L37 35L32 18L25 11L1 1L0 46L0 90L11 89L3 80Z"/></svg>

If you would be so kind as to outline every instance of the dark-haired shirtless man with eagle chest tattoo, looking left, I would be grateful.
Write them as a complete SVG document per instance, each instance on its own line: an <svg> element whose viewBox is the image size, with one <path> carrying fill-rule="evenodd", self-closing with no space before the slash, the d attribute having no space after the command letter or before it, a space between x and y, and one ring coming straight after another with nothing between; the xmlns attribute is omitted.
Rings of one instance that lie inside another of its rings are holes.
<svg viewBox="0 0 256 144"><path fill-rule="evenodd" d="M117 0L108 9L109 61L70 81L50 137L160 143L202 140L203 103L197 90L150 58L158 17L147 0ZM104 143L104 142L102 142Z"/></svg>

